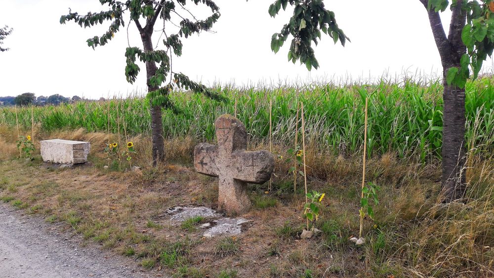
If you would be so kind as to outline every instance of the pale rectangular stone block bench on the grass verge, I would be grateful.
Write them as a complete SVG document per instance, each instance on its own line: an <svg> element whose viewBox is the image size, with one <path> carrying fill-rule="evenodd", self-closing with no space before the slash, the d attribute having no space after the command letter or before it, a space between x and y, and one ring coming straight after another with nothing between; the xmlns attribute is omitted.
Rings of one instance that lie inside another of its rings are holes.
<svg viewBox="0 0 494 278"><path fill-rule="evenodd" d="M45 162L79 164L87 162L89 142L52 139L41 141L41 157Z"/></svg>

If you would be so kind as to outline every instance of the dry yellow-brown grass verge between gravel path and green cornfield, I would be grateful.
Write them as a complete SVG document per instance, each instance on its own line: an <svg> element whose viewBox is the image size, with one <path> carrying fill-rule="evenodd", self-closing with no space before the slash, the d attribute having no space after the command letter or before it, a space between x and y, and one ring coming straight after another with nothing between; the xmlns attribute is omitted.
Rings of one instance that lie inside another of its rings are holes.
<svg viewBox="0 0 494 278"><path fill-rule="evenodd" d="M493 159L471 160L465 205L438 203L439 163L422 165L391 153L370 159L369 181L382 190L375 220L365 221L367 243L360 248L348 241L359 230L359 159L307 151L309 187L327 193L318 224L321 237L297 238L304 225L303 195L293 194L290 165L279 160L268 197L265 185L249 188L252 199L260 200L244 215L253 225L235 239L203 239L199 229L184 230L164 217L174 205L217 205L215 179L191 168L192 140L166 141L170 163L151 168L149 139L132 138L143 170L117 172L102 168L106 161L99 146L108 140L103 133L42 136L91 142L92 165L53 170L42 167L39 157L2 160L0 199L44 214L49 222L66 222L67 229L86 240L130 256L153 272L161 266L189 277L230 272L239 277L494 276ZM2 137L3 144L14 139ZM275 146L275 153L286 156L283 149Z"/></svg>

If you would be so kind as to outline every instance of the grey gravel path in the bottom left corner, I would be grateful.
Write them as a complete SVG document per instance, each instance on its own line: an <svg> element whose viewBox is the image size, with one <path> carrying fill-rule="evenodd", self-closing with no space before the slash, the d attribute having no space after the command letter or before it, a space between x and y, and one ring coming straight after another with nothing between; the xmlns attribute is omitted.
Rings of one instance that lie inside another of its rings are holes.
<svg viewBox="0 0 494 278"><path fill-rule="evenodd" d="M0 204L0 277L143 277L131 262Z"/></svg>

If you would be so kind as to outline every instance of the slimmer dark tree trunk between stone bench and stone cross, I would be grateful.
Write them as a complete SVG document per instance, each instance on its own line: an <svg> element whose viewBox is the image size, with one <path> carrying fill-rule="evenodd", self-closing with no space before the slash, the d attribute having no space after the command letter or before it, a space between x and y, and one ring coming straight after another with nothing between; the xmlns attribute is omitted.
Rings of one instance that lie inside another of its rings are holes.
<svg viewBox="0 0 494 278"><path fill-rule="evenodd" d="M153 50L153 42L151 40L152 35L153 35L152 30L141 34L144 51ZM156 74L157 70L158 68L156 67L156 63L146 62L148 92L152 92L158 89L156 86L151 86L149 84L149 80L151 79L151 77L153 77ZM156 166L158 164L158 161L164 159L165 150L164 150L163 120L162 120L161 107L153 106L152 103L151 103L151 129L152 129L151 138L153 141L153 165Z"/></svg>

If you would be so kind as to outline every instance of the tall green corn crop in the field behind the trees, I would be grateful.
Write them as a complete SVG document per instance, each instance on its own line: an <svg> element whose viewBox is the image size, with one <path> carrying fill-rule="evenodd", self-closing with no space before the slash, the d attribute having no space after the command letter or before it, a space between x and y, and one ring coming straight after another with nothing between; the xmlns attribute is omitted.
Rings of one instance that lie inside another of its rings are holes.
<svg viewBox="0 0 494 278"><path fill-rule="evenodd" d="M296 98L304 102L307 142L312 148L336 155L351 155L363 147L364 105L369 97L369 157L388 152L400 158L416 156L422 161L440 158L442 142L442 90L440 82L421 85L412 81L373 85L308 85L303 88L217 88L230 99L220 103L188 92L173 93L183 111L164 111L165 138L191 137L214 140L214 120L224 113L234 114L249 132L251 142L265 142L269 134L269 99L273 98L273 141L291 146L295 137ZM142 98L106 102L78 102L58 107L37 107L35 124L44 131L84 128L89 132L117 133L117 113L129 136L151 133L149 103ZM494 151L494 86L484 78L466 86L466 142L477 146L475 155ZM31 126L31 111L18 109L19 123ZM15 125L13 109L0 110L0 124Z"/></svg>

